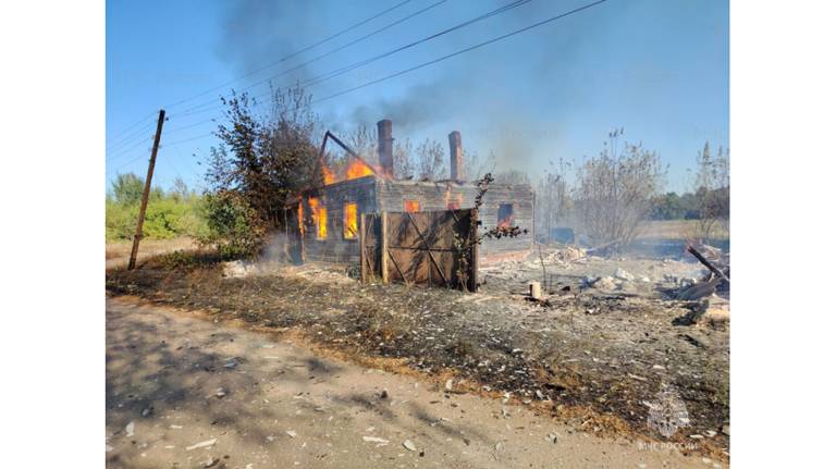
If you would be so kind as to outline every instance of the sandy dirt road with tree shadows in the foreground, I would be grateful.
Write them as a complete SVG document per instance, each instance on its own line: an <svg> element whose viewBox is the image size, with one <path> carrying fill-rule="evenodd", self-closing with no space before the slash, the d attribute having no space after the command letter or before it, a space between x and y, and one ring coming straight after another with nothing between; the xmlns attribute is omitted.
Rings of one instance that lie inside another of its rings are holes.
<svg viewBox="0 0 836 469"><path fill-rule="evenodd" d="M201 318L107 300L108 467L720 467Z"/></svg>

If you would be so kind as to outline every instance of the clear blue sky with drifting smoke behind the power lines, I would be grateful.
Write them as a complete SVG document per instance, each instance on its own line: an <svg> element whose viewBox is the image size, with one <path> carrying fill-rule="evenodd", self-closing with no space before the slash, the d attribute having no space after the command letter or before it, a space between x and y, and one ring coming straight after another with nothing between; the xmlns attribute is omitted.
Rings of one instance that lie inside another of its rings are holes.
<svg viewBox="0 0 836 469"><path fill-rule="evenodd" d="M411 0L278 66L175 104L404 0L181 0L107 2L107 174L144 175L156 113L165 108L155 183L176 176L200 187L198 161L217 145L205 122L220 110L181 115L229 87L244 88L440 0ZM470 20L504 1L447 0L416 17L274 79L292 85ZM311 88L315 100L590 3L532 0L489 20L388 57ZM527 33L316 104L337 134L393 121L395 138L462 132L467 149L497 156L497 170L533 178L550 160L580 161L624 127L669 165L687 172L705 140L728 146L728 2L608 0ZM266 85L251 89L265 92ZM138 123L138 124L137 124Z"/></svg>

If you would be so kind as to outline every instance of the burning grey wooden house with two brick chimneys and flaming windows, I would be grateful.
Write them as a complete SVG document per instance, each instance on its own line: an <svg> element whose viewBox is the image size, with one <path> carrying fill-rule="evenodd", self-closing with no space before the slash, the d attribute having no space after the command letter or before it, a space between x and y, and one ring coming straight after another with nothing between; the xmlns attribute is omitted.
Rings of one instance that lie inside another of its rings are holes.
<svg viewBox="0 0 836 469"><path fill-rule="evenodd" d="M339 172L321 161L323 185L311 187L288 202L290 249L297 261L359 262L364 213L438 212L470 209L475 205L476 182L460 177L464 161L458 132L450 134L450 178L442 181L395 178L391 121L378 122L379 164L365 161L330 132L322 141L322 152L329 138L342 146L351 158ZM485 239L479 247L479 262L521 257L530 251L533 205L529 184L490 185L478 213L481 226L516 225L528 233L514 238Z"/></svg>

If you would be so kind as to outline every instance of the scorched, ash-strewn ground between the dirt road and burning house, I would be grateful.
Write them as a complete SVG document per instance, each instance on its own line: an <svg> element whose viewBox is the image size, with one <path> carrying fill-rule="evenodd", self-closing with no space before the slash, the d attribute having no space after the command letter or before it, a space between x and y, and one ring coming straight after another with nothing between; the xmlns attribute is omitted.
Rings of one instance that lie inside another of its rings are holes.
<svg viewBox="0 0 836 469"><path fill-rule="evenodd" d="M708 273L686 254L601 258L543 247L483 267L478 294L361 284L345 269L312 264L164 266L109 271L108 292L453 373L462 387L543 406L590 432L659 437L648 408L668 386L689 415L672 440L727 455L727 294L677 299ZM542 283L542 300L527 296L531 281Z"/></svg>

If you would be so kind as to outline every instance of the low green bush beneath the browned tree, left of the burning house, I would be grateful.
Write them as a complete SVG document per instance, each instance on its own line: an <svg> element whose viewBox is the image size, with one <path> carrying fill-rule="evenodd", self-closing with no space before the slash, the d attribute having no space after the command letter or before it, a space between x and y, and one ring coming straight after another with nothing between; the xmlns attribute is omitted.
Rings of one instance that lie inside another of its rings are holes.
<svg viewBox="0 0 836 469"><path fill-rule="evenodd" d="M236 192L207 194L202 217L207 231L198 240L217 247L222 258L253 257L263 246L267 226L258 211Z"/></svg>

